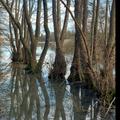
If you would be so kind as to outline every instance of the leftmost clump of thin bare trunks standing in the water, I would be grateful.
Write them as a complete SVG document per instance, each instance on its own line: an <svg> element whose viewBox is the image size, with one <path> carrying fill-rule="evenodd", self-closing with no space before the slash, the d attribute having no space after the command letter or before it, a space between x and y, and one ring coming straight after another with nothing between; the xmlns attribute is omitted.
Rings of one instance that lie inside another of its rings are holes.
<svg viewBox="0 0 120 120"><path fill-rule="evenodd" d="M15 19L18 20L20 17L20 0L19 3L14 2L14 0L10 3L8 0L6 1L7 6L11 11L13 11L13 5L15 4ZM19 20L18 20L19 21ZM22 24L21 24L22 26ZM13 28L13 30L12 30ZM9 16L9 30L10 30L10 43L11 43L11 48L12 48L12 61L23 61L23 55L22 55L22 50L21 50L21 42L19 39L19 33L18 33L18 28L14 24L13 20ZM14 36L15 39L13 40L13 32L14 31ZM13 42L14 41L14 42Z"/></svg>

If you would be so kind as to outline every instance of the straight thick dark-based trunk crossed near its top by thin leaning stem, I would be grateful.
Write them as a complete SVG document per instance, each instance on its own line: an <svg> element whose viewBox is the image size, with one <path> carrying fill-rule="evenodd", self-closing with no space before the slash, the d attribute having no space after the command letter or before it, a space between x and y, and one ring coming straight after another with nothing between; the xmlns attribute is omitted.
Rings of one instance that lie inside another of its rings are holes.
<svg viewBox="0 0 120 120"><path fill-rule="evenodd" d="M75 18L79 24L79 26L81 26L81 22L82 22L82 1L75 1ZM79 15L78 15L79 13ZM81 66L80 66L80 48L78 45L78 41L81 39L81 36L79 34L79 30L77 28L77 26L75 25L75 50L74 50L74 57L73 57L73 61L72 61L72 66L70 68L70 75L68 77L69 81L82 81L82 70L81 70Z"/></svg>

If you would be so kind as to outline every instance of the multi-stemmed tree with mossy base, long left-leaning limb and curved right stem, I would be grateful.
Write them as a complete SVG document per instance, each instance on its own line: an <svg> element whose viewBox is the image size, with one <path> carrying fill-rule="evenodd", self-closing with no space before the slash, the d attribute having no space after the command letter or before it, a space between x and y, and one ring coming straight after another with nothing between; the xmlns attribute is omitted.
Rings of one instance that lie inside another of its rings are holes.
<svg viewBox="0 0 120 120"><path fill-rule="evenodd" d="M36 61L36 48L37 48L37 43L39 40L39 35L40 35L40 14L41 14L41 0L37 1L37 13L36 13L36 30L35 30L35 34L33 32L32 29L32 23L31 23L31 15L32 15L32 11L31 9L33 8L33 4L31 4L31 0L29 1L29 12L28 12L28 8L27 8L27 0L23 1L23 10L25 13L23 15L23 17L25 19L23 19L24 23L24 37L23 37L23 25L21 26L18 19L15 19L13 13L10 11L9 7L5 4L5 2L3 0L1 0L1 3L3 4L3 6L5 7L5 9L8 11L11 19L13 20L14 24L16 25L15 27L17 27L19 29L19 33L20 33L20 40L23 44L23 47L25 49L25 51L27 52L28 56L29 56L29 64L28 67L26 69L30 69L31 71L35 72L36 69L38 69L38 67L36 67L37 65L37 61ZM44 13L44 17L45 17L45 23L44 23L44 27L45 27L45 31L47 33L46 35L46 46L45 49L43 50L42 56L39 60L39 69L42 68L42 64L43 64L43 60L45 58L45 54L47 52L48 49L48 41L49 41L49 29L47 27L47 6L46 6L46 2L44 1L44 6L45 6L45 13ZM17 15L17 13L16 13ZM27 32L27 28L28 28L28 32ZM27 35L26 35L27 33ZM30 48L28 46L28 41L27 41L27 36L30 36ZM38 66L38 65L37 65Z"/></svg>

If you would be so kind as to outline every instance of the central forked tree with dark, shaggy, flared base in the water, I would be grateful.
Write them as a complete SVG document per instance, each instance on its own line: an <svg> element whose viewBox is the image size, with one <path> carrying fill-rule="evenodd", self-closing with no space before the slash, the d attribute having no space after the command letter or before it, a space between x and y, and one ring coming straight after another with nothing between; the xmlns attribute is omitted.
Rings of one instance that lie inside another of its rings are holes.
<svg viewBox="0 0 120 120"><path fill-rule="evenodd" d="M64 20L64 26L62 29L62 32L60 30L60 0L57 0L57 7L56 7L56 0L52 0L52 12L53 12L53 23L54 23L54 36L55 36L55 42L56 42L56 56L55 56L55 62L53 64L53 69L51 69L49 74L49 79L57 79L57 78L64 78L64 75L66 74L66 62L65 57L63 53L63 41L67 28L68 23L68 11L66 10L65 20ZM70 0L67 0L67 4L70 6ZM56 12L57 8L57 12Z"/></svg>

